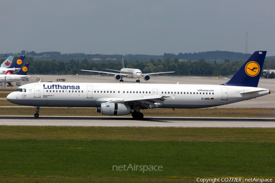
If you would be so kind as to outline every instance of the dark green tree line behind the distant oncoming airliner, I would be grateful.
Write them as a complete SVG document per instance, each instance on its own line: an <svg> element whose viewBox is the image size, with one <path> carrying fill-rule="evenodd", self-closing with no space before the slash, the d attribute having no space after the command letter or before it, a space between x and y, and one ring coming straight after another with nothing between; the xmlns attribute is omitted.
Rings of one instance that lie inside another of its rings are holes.
<svg viewBox="0 0 275 183"><path fill-rule="evenodd" d="M18 57L14 57L13 62ZM5 59L2 59L3 62ZM1 62L1 63L2 63ZM28 74L88 74L94 75L98 73L80 71L82 70L96 70L106 71L105 69L120 70L122 68L121 60L116 62L108 61L106 63L96 63L94 61L88 61L83 59L82 61L70 59L68 62L60 62L55 59L52 60L36 60L32 57L25 57L24 63L30 63ZM235 60L230 62L229 59L225 59L224 63L217 64L207 63L204 59L197 61L180 61L178 58L172 59L171 56L166 57L163 61L161 59L150 59L147 62L128 62L124 60L124 66L126 68L140 69L142 73L153 72L169 72L175 71L175 73L165 75L179 75L179 76L229 76L234 75L240 67L245 63L242 60ZM275 60L267 60L263 65L263 69L266 69L267 65L269 69L275 69Z"/></svg>

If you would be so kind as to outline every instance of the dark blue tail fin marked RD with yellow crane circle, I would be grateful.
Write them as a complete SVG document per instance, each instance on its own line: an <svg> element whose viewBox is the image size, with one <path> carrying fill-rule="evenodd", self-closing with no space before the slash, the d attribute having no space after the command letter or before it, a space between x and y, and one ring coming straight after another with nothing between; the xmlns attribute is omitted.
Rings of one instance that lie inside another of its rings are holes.
<svg viewBox="0 0 275 183"><path fill-rule="evenodd" d="M256 51L238 70L238 72L225 84L229 86L258 87L266 51Z"/></svg>

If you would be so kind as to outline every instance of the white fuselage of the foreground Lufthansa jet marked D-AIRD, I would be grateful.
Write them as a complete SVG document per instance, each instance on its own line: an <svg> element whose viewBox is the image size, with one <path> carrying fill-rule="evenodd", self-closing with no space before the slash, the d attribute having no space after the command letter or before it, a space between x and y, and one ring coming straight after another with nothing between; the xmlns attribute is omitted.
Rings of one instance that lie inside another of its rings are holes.
<svg viewBox="0 0 275 183"><path fill-rule="evenodd" d="M165 104L156 104L158 108L205 108L253 99L270 93L263 88L206 84L41 82L25 84L19 88L24 88L23 91L26 92L10 93L7 96L10 102L48 107L100 107L102 102L112 99L175 94L174 99L166 98ZM243 94L245 92L249 93Z"/></svg>

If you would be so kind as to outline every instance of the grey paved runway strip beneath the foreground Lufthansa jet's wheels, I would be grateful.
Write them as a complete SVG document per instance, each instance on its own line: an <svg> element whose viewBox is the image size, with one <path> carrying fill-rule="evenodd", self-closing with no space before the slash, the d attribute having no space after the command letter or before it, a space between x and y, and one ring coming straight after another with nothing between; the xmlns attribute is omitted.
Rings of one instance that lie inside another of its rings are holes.
<svg viewBox="0 0 275 183"><path fill-rule="evenodd" d="M0 116L4 126L251 127L275 128L275 118Z"/></svg>

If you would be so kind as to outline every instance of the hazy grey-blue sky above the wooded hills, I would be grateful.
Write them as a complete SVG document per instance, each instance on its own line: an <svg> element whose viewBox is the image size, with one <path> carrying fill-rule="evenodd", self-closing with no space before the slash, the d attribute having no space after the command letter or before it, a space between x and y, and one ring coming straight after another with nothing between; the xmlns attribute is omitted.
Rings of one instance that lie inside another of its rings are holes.
<svg viewBox="0 0 275 183"><path fill-rule="evenodd" d="M275 1L0 0L0 53L267 51Z"/></svg>

